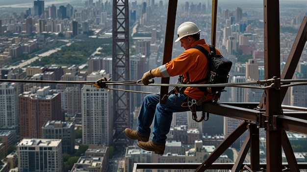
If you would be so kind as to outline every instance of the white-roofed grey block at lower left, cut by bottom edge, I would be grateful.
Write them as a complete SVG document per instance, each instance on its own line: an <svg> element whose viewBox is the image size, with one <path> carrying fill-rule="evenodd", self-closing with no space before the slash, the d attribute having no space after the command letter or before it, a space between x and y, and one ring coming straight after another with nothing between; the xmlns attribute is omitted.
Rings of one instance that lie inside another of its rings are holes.
<svg viewBox="0 0 307 172"><path fill-rule="evenodd" d="M23 139L17 145L19 172L63 172L61 140Z"/></svg>

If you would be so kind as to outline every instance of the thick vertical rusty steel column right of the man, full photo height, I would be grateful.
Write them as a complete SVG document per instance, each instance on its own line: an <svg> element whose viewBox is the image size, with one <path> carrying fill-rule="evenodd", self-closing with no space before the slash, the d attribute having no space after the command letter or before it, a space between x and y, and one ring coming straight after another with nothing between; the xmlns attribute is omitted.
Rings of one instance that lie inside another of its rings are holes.
<svg viewBox="0 0 307 172"><path fill-rule="evenodd" d="M264 0L264 79L280 78L279 0ZM276 89L266 88L266 161L267 172L281 172L281 131L275 130L274 115L281 115L280 81Z"/></svg>

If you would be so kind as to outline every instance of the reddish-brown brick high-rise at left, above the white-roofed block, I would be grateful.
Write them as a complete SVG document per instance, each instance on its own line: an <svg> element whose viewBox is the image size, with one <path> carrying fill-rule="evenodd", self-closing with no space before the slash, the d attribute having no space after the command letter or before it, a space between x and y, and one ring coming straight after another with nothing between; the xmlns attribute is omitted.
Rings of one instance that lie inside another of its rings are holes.
<svg viewBox="0 0 307 172"><path fill-rule="evenodd" d="M49 94L50 86L32 87L19 95L21 138L42 138L42 127L47 121L63 120L61 94Z"/></svg>

